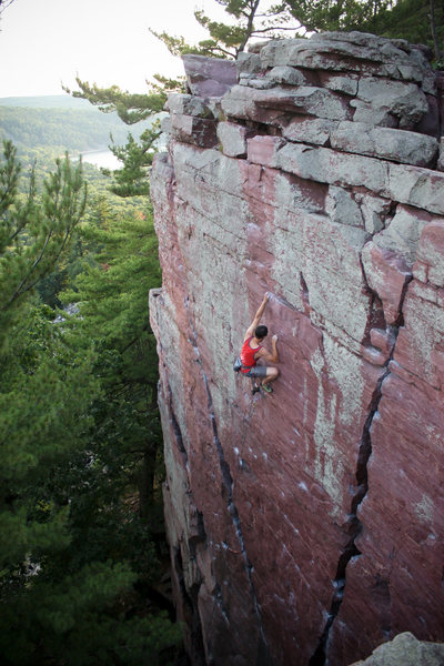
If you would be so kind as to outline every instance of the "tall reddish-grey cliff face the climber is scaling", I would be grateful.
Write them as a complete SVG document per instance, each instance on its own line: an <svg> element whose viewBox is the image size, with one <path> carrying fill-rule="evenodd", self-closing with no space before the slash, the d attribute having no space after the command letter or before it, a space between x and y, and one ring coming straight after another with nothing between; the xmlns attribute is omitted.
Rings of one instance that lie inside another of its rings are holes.
<svg viewBox="0 0 444 666"><path fill-rule="evenodd" d="M444 642L437 77L361 33L271 41L234 84L191 64L152 171L150 311L192 663L345 666L401 632ZM265 291L281 375L252 397L232 363Z"/></svg>

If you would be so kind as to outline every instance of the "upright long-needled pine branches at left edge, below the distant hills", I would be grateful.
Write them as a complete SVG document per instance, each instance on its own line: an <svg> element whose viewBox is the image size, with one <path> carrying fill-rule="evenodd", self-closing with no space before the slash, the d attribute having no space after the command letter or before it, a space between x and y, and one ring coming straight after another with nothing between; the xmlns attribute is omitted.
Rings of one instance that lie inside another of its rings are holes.
<svg viewBox="0 0 444 666"><path fill-rule="evenodd" d="M3 144L0 168L0 347L8 323L23 296L48 275L63 255L81 219L87 198L81 165L72 169L68 157L43 183L40 199L31 174L28 195L18 198L20 167L11 142Z"/></svg>

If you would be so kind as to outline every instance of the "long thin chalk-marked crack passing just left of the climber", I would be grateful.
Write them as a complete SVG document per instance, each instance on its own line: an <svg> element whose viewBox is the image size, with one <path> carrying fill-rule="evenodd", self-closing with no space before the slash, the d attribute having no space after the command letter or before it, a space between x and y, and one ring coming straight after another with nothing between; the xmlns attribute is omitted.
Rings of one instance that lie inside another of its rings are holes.
<svg viewBox="0 0 444 666"><path fill-rule="evenodd" d="M223 485L224 485L224 488L226 492L226 506L228 506L229 514L233 522L235 535L238 537L238 542L239 542L239 546L240 546L240 555L242 556L243 562L244 562L244 571L245 571L245 575L246 575L246 578L249 582L254 610L255 610L255 614L258 617L258 627L259 627L261 644L258 646L256 666L271 666L272 658L270 655L270 649L269 649L265 634L263 630L261 608L260 608L260 605L258 602L254 583L253 583L253 578L252 578L253 566L252 566L252 564L249 559L248 553L246 553L245 542L244 542L243 533L242 533L241 519L239 516L238 507L234 504L234 500L233 500L233 477L231 475L230 465L225 460L225 454L224 454L221 441L219 438L218 424L215 421L215 414L214 414L214 407L213 407L213 398L211 396L211 390L210 390L210 382L209 382L206 373L203 369L202 361L200 357L201 355L200 355L199 345L198 345L198 334L196 334L193 323L192 323L188 300L185 301L185 309L188 312L189 325L190 325L190 331L192 334L191 343L192 343L194 352L196 354L196 362L200 365L202 379L203 379L205 391L206 391L208 408L209 408L209 414L210 414L210 420L211 420L211 425L212 425L212 431L213 431L213 442L214 442L215 448L218 451L221 476L222 476Z"/></svg>

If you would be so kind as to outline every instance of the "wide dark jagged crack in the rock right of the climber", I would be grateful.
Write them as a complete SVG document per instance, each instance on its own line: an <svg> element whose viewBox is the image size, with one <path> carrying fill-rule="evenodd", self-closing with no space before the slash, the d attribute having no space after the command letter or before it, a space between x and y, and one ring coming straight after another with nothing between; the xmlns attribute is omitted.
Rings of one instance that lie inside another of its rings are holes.
<svg viewBox="0 0 444 666"><path fill-rule="evenodd" d="M363 269L364 281L366 282L369 292L372 295L371 303L370 303L371 311L370 311L369 319L371 322L374 322L376 319L379 319L377 313L375 313L375 311L374 311L374 306L375 306L375 304L377 304L381 301L379 299L379 295L370 287L369 283L366 281L364 268L362 266L362 269ZM360 450L359 450L357 462L356 462L356 473L355 473L356 492L352 498L351 513L349 514L347 527L346 527L346 534L349 536L349 542L347 542L344 551L341 553L339 562L337 562L336 575L333 581L334 593L333 593L332 602L330 605L327 619L325 623L324 630L319 640L317 647L309 662L309 666L324 666L324 665L329 664L329 636L330 636L330 632L333 626L333 623L340 612L342 601L344 598L345 583L346 583L346 567L349 565L349 562L353 557L361 555L361 552L359 551L359 548L355 544L355 541L360 536L360 534L362 532L362 527L363 527L360 518L357 517L357 509L359 509L360 504L362 503L362 501L364 500L365 495L369 492L367 464L369 464L370 456L372 455L371 428L372 428L373 420L377 413L380 402L382 398L382 385L383 385L384 381L387 379L387 376L391 374L389 366L390 366L390 362L392 361L392 359L394 356L400 326L403 325L403 321L404 321L403 320L403 305L404 305L405 295L407 293L408 283L411 282L411 280L412 280L412 276L410 279L407 279L404 284L403 292L402 292L402 295L400 299L397 319L393 325L387 326L390 335L392 336L392 340L393 340L393 345L392 345L389 359L384 363L384 366L383 366L385 370L382 373L382 375L380 376L380 379L376 383L375 390L373 392L372 400L371 400L370 407L369 407L369 414L367 414L367 417L365 420L365 423L364 423L364 426L362 430ZM370 337L370 330L366 333L369 334L369 337Z"/></svg>

